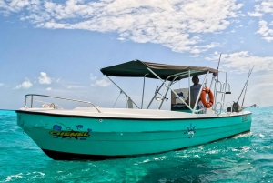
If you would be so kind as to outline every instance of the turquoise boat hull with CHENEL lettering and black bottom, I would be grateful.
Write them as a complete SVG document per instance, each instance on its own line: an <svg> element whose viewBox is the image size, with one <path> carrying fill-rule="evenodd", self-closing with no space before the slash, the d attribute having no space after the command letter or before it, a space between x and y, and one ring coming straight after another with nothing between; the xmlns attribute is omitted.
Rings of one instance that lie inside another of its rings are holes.
<svg viewBox="0 0 273 183"><path fill-rule="evenodd" d="M81 117L17 110L17 124L56 160L106 159L202 145L250 130L248 111L215 117Z"/></svg>

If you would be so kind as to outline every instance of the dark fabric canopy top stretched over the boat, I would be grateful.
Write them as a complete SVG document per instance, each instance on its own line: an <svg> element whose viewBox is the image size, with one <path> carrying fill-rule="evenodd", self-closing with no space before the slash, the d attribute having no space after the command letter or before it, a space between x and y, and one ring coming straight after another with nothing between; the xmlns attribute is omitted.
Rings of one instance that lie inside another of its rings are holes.
<svg viewBox="0 0 273 183"><path fill-rule="evenodd" d="M147 68L150 68L161 79L167 79L170 81L172 81L175 77L171 75L176 75L178 73L181 73L181 76L179 76L177 79L187 78L188 70L190 70L190 76L203 75L207 74L207 72L217 73L216 69L204 66L174 66L144 62L140 60L133 60L116 66L108 66L100 69L100 71L106 76L143 77L148 74L146 77L157 78L157 76L152 74L149 70L147 70Z"/></svg>

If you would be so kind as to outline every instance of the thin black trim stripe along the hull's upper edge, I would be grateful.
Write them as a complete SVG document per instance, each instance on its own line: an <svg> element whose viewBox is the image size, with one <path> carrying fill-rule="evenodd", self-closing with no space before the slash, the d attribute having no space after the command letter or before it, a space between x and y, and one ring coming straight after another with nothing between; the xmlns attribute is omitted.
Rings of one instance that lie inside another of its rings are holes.
<svg viewBox="0 0 273 183"><path fill-rule="evenodd" d="M210 119L210 118L223 118L223 117L197 117L197 118L131 118L131 117L86 117L81 115L63 115L63 114L50 114L44 112L32 112L32 111L22 111L16 110L16 113L23 113L23 114L32 114L32 115L44 115L44 116L51 116L51 117L82 117L82 118L99 118L99 119L119 119L119 120L188 120L188 119ZM251 115L252 113L248 114L241 114L238 116L227 116L227 117L240 117L245 115Z"/></svg>

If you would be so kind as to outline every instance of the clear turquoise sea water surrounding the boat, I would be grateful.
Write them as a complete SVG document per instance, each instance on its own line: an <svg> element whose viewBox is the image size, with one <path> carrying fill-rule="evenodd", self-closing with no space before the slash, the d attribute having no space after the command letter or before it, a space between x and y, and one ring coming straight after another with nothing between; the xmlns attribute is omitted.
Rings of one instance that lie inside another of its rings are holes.
<svg viewBox="0 0 273 183"><path fill-rule="evenodd" d="M0 182L273 182L273 107L251 132L199 147L104 161L55 161L0 110Z"/></svg>

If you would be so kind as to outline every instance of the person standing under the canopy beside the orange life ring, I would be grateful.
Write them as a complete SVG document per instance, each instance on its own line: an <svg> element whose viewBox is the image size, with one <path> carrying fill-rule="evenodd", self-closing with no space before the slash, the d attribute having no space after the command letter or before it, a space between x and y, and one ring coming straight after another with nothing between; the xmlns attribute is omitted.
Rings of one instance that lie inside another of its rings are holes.
<svg viewBox="0 0 273 183"><path fill-rule="evenodd" d="M199 84L199 77L197 75L192 77L192 82L193 82L193 86L190 86L190 96L188 95L187 98L187 104L189 101L189 97L190 97L190 107L194 107L197 101L197 97L199 94L199 91L201 89L201 84ZM198 102L200 101L200 98L198 98ZM197 109L199 108L198 106L200 106L200 104L197 105Z"/></svg>

